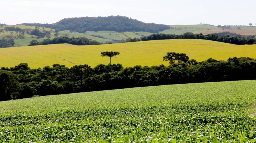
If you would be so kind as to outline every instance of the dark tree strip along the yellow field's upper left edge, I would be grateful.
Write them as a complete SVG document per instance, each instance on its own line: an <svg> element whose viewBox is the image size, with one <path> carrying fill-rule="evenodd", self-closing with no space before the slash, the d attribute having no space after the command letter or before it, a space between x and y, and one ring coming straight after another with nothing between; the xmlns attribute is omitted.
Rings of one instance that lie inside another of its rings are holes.
<svg viewBox="0 0 256 143"><path fill-rule="evenodd" d="M67 44L72 44L72 45L100 45L103 43L97 42L95 40L92 39L88 39L85 37L72 37L69 38L67 36L61 36L61 37L57 37L57 38L53 38L51 39L44 39L41 42L38 42L37 40L32 40L30 41L30 44L28 46L34 46L34 45L48 45L48 44L63 44L63 43L67 43Z"/></svg>

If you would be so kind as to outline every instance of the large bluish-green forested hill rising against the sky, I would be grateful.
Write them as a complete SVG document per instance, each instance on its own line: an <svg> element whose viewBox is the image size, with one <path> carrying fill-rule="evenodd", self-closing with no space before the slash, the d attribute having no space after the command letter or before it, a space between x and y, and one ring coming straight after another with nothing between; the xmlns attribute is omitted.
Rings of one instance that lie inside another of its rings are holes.
<svg viewBox="0 0 256 143"><path fill-rule="evenodd" d="M65 18L54 24L22 23L27 26L47 27L57 30L86 31L143 31L158 33L170 29L168 25L144 23L126 16Z"/></svg>

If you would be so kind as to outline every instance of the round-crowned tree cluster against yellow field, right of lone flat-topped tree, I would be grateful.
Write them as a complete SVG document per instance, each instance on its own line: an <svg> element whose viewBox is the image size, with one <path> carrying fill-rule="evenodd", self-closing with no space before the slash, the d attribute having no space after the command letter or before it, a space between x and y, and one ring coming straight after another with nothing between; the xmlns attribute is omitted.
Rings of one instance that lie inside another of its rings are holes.
<svg viewBox="0 0 256 143"><path fill-rule="evenodd" d="M170 64L175 63L177 60L178 63L180 62L187 62L189 60L189 57L184 53L174 53L174 52L168 52L166 56L164 56L165 61L169 61Z"/></svg>

